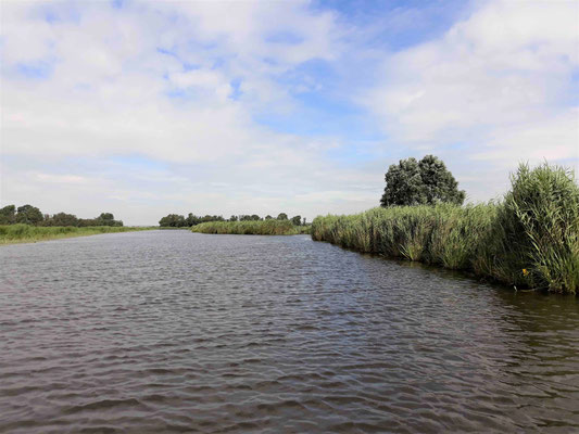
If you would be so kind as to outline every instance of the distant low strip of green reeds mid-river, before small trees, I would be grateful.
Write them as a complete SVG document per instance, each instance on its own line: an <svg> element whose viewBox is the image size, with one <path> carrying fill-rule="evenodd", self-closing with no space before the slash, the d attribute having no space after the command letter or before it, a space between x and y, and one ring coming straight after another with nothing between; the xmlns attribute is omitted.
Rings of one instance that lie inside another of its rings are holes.
<svg viewBox="0 0 579 434"><path fill-rule="evenodd" d="M207 221L191 228L193 232L239 235L295 235L310 233L307 226L289 220Z"/></svg>

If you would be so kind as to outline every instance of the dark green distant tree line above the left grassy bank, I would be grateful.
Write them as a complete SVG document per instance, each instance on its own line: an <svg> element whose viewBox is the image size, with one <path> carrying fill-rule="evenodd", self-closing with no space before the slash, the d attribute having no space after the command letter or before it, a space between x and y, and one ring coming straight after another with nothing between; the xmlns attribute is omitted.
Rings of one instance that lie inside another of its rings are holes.
<svg viewBox="0 0 579 434"><path fill-rule="evenodd" d="M0 208L0 225L26 224L32 226L123 226L123 221L115 220L113 214L102 213L95 218L78 218L74 214L58 213L54 215L42 214L33 205L8 205Z"/></svg>

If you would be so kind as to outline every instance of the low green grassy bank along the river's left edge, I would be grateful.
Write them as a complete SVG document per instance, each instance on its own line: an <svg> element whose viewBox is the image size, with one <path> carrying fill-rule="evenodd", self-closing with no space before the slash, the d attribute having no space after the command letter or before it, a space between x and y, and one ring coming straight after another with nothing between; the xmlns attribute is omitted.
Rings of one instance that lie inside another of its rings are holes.
<svg viewBox="0 0 579 434"><path fill-rule="evenodd" d="M158 228L92 226L77 228L74 226L39 227L29 225L0 226L0 244L34 243L71 237L97 235L99 233L133 232Z"/></svg>

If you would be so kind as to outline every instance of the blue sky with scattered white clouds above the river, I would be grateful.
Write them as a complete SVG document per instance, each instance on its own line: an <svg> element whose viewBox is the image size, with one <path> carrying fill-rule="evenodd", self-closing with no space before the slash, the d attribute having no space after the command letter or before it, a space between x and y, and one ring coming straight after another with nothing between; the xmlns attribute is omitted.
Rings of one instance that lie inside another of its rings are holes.
<svg viewBox="0 0 579 434"><path fill-rule="evenodd" d="M0 4L0 206L311 221L411 156L468 202L579 169L577 1Z"/></svg>

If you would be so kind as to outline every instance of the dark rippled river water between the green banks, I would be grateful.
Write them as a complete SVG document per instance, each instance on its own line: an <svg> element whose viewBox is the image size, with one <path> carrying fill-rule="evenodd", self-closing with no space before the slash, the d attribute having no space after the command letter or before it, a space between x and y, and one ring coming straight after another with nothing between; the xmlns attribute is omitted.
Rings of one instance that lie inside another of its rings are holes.
<svg viewBox="0 0 579 434"><path fill-rule="evenodd" d="M0 247L0 432L579 431L579 303L309 237Z"/></svg>

